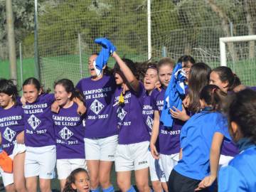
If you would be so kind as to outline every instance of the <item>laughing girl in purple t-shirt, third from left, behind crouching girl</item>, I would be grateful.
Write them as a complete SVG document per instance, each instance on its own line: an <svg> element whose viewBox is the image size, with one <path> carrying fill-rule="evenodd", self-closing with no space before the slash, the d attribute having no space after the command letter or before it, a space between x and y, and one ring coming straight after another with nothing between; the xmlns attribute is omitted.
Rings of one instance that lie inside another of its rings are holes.
<svg viewBox="0 0 256 192"><path fill-rule="evenodd" d="M78 105L73 102L73 98L79 97L80 92L75 90L71 80L55 82L54 95L60 106L58 114L53 114L53 122L57 149L56 166L60 190L63 191L70 172L77 168L85 169L85 122L84 117L77 113Z"/></svg>

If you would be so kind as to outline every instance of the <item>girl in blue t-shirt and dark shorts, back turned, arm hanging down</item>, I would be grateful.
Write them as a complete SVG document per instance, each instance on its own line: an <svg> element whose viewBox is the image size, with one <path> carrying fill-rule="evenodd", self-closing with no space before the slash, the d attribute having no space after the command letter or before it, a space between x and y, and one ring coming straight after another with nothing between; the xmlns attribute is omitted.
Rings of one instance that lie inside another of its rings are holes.
<svg viewBox="0 0 256 192"><path fill-rule="evenodd" d="M225 93L206 85L200 94L201 112L181 129L181 160L169 177L169 191L201 190L215 181L225 118L218 112ZM199 186L198 186L199 185Z"/></svg>

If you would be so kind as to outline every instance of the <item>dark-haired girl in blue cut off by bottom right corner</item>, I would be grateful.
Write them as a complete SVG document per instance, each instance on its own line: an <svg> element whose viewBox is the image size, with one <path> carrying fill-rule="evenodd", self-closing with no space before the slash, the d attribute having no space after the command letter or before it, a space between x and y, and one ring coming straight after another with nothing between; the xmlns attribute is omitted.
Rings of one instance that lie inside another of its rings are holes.
<svg viewBox="0 0 256 192"><path fill-rule="evenodd" d="M242 90L228 97L229 132L238 144L239 154L218 174L218 191L247 191L256 189L256 92Z"/></svg>

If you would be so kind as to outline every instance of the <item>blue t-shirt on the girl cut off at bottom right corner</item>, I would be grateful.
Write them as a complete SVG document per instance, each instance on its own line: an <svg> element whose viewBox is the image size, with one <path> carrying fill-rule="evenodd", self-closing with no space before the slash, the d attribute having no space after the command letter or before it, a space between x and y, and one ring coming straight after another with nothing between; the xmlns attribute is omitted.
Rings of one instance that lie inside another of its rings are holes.
<svg viewBox="0 0 256 192"><path fill-rule="evenodd" d="M242 151L218 174L218 191L256 191L256 145Z"/></svg>

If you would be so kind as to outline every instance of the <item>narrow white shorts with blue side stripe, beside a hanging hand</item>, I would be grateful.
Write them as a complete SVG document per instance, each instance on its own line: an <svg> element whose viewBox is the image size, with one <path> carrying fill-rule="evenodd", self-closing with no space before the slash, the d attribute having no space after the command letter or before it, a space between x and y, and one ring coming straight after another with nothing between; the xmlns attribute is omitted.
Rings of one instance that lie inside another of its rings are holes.
<svg viewBox="0 0 256 192"><path fill-rule="evenodd" d="M160 159L154 159L151 152L149 151L149 173L151 181L166 182L163 166Z"/></svg>

